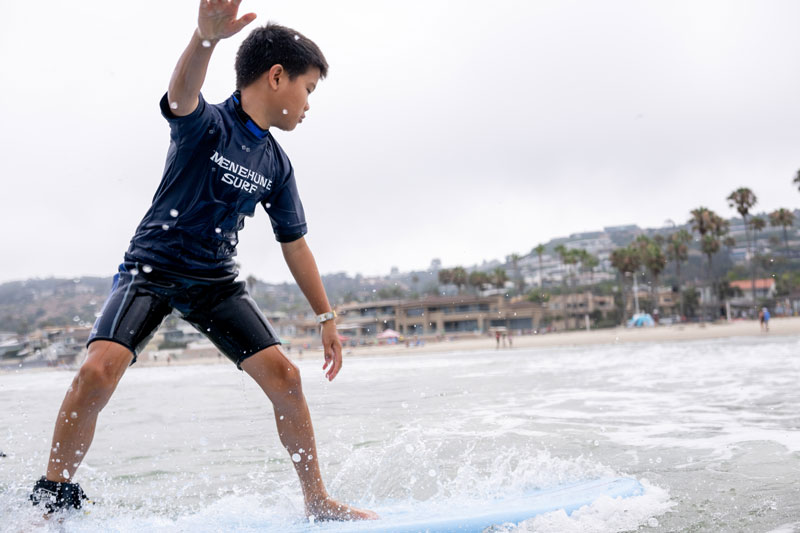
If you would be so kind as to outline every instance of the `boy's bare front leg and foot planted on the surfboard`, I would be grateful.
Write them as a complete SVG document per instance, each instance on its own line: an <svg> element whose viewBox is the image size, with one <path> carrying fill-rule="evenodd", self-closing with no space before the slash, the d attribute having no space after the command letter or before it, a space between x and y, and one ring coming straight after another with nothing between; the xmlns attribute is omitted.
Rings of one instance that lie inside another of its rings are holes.
<svg viewBox="0 0 800 533"><path fill-rule="evenodd" d="M306 513L322 520L369 520L372 511L355 509L331 499L319 470L314 428L300 381L300 371L280 346L270 346L242 361L247 372L272 401L278 436L300 478ZM299 461L297 460L299 457Z"/></svg>

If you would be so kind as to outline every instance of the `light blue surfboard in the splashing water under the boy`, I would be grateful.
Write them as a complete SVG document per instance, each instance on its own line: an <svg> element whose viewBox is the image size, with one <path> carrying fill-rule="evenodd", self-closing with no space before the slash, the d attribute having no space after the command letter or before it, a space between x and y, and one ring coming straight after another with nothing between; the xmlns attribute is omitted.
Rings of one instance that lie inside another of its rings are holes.
<svg viewBox="0 0 800 533"><path fill-rule="evenodd" d="M567 514L591 505L603 496L630 498L644 493L642 485L631 478L604 478L581 481L557 487L536 490L526 495L450 507L446 511L419 513L418 511L383 512L380 520L365 522L321 522L283 524L266 531L286 533L480 533L486 528L513 523L518 524L535 516L564 510Z"/></svg>

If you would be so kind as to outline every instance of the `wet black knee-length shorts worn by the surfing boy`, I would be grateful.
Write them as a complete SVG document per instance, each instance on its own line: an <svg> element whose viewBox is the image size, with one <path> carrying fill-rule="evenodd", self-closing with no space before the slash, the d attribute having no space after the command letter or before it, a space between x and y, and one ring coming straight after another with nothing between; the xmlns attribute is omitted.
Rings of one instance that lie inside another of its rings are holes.
<svg viewBox="0 0 800 533"><path fill-rule="evenodd" d="M236 274L221 278L186 276L126 260L114 275L111 293L95 321L88 346L108 340L138 353L175 309L228 359L241 363L280 339Z"/></svg>

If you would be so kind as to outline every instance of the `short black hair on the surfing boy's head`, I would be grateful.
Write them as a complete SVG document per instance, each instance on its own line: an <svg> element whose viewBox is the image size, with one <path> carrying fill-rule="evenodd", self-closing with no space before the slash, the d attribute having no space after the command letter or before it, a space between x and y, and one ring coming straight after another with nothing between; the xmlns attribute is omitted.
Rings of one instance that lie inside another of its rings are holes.
<svg viewBox="0 0 800 533"><path fill-rule="evenodd" d="M236 88L244 89L273 65L282 65L289 79L317 67L328 74L328 62L319 47L303 34L279 24L254 29L236 52Z"/></svg>

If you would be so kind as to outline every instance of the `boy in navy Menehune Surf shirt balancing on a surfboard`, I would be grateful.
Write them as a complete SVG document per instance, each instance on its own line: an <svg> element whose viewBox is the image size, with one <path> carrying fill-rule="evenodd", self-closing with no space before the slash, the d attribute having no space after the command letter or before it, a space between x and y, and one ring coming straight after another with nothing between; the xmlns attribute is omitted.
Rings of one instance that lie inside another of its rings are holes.
<svg viewBox="0 0 800 533"><path fill-rule="evenodd" d="M311 40L268 24L239 48L237 91L222 104L207 104L200 89L214 47L256 17L237 19L240 2L200 2L197 30L161 101L171 137L164 175L61 405L47 475L31 494L35 505L50 512L81 507L86 496L70 480L92 442L97 415L164 317L177 309L263 389L289 454L305 450L304 460L294 464L306 514L323 520L377 518L328 496L298 368L244 283L234 281L238 230L261 203L292 275L318 314L325 375L336 377L342 348L335 314L303 238L306 223L291 163L268 131L291 131L302 122L308 95L328 65Z"/></svg>

